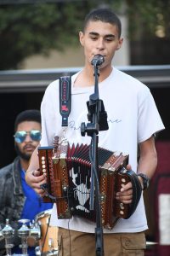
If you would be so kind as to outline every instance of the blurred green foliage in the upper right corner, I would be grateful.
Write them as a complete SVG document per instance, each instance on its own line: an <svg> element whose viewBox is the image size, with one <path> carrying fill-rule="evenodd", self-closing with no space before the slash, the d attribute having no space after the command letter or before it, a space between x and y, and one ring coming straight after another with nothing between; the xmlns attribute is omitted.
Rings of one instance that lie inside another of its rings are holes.
<svg viewBox="0 0 170 256"><path fill-rule="evenodd" d="M170 38L170 0L126 0L129 37Z"/></svg>

